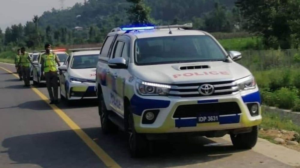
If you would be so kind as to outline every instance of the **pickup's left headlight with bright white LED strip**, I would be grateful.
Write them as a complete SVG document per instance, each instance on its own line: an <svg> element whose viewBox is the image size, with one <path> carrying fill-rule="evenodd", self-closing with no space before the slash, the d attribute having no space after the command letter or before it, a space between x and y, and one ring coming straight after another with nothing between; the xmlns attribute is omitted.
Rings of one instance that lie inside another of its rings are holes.
<svg viewBox="0 0 300 168"><path fill-rule="evenodd" d="M160 95L167 96L169 94L170 85L164 85L159 83L144 82L137 80L137 92L140 95Z"/></svg>

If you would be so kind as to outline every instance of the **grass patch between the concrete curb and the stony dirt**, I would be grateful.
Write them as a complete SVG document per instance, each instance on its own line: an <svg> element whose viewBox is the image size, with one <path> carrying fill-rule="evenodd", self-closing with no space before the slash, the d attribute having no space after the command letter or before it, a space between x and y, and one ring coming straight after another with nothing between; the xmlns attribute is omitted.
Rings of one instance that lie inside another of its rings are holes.
<svg viewBox="0 0 300 168"><path fill-rule="evenodd" d="M259 125L264 129L281 129L287 131L296 131L300 134L300 126L294 124L292 120L288 118L282 118L276 113L269 111L262 111L262 123ZM267 139L268 137L266 137Z"/></svg>

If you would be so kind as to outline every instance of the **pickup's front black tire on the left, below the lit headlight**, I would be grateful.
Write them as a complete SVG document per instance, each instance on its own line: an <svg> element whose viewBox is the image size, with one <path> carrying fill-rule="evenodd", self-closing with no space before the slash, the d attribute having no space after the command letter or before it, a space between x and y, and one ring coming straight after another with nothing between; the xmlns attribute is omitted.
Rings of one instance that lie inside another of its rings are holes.
<svg viewBox="0 0 300 168"><path fill-rule="evenodd" d="M149 153L149 141L144 134L139 134L134 129L134 120L130 108L128 110L129 152L131 158L141 158Z"/></svg>

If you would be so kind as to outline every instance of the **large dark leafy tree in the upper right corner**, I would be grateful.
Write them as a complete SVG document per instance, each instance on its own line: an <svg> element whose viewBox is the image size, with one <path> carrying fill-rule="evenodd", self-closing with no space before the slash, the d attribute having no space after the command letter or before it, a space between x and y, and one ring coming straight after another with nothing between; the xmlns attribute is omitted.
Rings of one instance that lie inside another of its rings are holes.
<svg viewBox="0 0 300 168"><path fill-rule="evenodd" d="M291 46L290 3L297 0L237 0L236 6L247 20L247 30L262 35L265 46ZM299 12L299 10L297 10Z"/></svg>

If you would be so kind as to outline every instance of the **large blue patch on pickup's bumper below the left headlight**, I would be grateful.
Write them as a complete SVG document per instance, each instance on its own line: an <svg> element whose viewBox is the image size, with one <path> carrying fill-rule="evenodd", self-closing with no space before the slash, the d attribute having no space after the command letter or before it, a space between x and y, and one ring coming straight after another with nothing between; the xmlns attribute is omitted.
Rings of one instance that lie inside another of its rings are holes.
<svg viewBox="0 0 300 168"><path fill-rule="evenodd" d="M138 116L141 116L146 109L162 109L169 107L171 101L165 100L153 100L140 98L137 95L133 95L131 100L132 112Z"/></svg>

